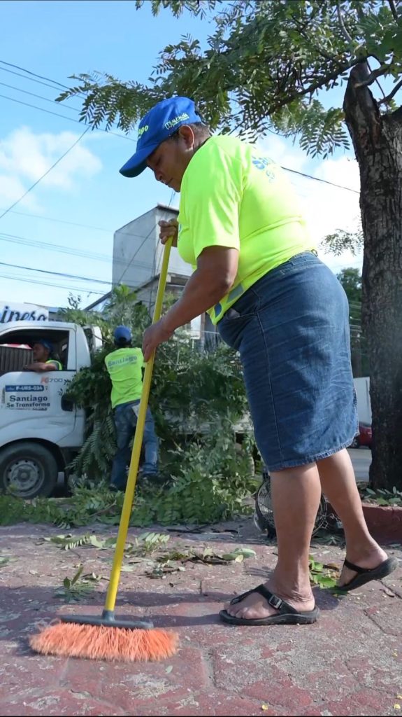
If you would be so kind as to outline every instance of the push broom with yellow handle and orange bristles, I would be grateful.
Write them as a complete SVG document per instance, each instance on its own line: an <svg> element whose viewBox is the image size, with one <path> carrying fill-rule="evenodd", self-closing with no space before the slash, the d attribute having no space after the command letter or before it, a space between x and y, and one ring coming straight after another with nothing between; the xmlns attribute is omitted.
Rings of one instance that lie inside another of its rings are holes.
<svg viewBox="0 0 402 717"><path fill-rule="evenodd" d="M156 323L162 313L171 246L172 239L169 239L165 244L152 323ZM124 546L137 482L154 359L155 351L145 366L127 488L114 550L109 589L102 615L99 617L93 615L60 616L60 622L45 627L39 634L30 638L29 645L35 652L64 657L87 657L93 660L146 662L147 660L163 660L165 657L174 655L177 650L178 636L175 632L154 629L153 623L147 620L120 619L114 614Z"/></svg>

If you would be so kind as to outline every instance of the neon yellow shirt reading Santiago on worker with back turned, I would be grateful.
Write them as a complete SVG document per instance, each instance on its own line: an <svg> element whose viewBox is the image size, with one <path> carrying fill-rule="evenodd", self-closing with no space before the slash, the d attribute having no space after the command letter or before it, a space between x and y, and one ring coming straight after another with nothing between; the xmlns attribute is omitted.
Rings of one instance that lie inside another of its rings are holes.
<svg viewBox="0 0 402 717"><path fill-rule="evenodd" d="M141 398L144 358L140 348L117 348L104 363L112 379L112 408Z"/></svg>

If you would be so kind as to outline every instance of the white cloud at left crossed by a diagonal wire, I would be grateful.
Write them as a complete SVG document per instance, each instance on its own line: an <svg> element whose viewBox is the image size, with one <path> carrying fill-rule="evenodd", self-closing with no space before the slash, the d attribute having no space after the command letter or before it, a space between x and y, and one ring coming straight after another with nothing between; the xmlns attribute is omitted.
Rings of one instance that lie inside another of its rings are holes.
<svg viewBox="0 0 402 717"><path fill-rule="evenodd" d="M22 127L0 141L0 185L9 184L8 201L24 194L78 137L72 132L35 134ZM99 158L81 142L41 180L41 186L71 191L101 168Z"/></svg>

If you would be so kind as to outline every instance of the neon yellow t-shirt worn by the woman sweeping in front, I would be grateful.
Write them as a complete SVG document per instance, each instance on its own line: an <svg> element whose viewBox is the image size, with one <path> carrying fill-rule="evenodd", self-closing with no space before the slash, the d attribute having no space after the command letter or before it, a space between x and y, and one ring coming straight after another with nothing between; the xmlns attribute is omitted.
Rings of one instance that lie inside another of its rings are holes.
<svg viewBox="0 0 402 717"><path fill-rule="evenodd" d="M257 146L211 137L187 166L180 189L177 248L194 268L206 247L239 250L235 282L211 308L216 324L267 272L315 249L284 171Z"/></svg>

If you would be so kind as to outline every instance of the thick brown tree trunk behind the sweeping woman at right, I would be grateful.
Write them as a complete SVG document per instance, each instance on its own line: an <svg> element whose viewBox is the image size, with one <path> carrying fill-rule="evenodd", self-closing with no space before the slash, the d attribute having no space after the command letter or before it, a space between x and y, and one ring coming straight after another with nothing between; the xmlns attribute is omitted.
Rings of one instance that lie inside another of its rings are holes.
<svg viewBox="0 0 402 717"><path fill-rule="evenodd" d="M350 72L343 109L361 176L363 333L373 413L374 488L402 490L402 110L381 115L365 63Z"/></svg>

